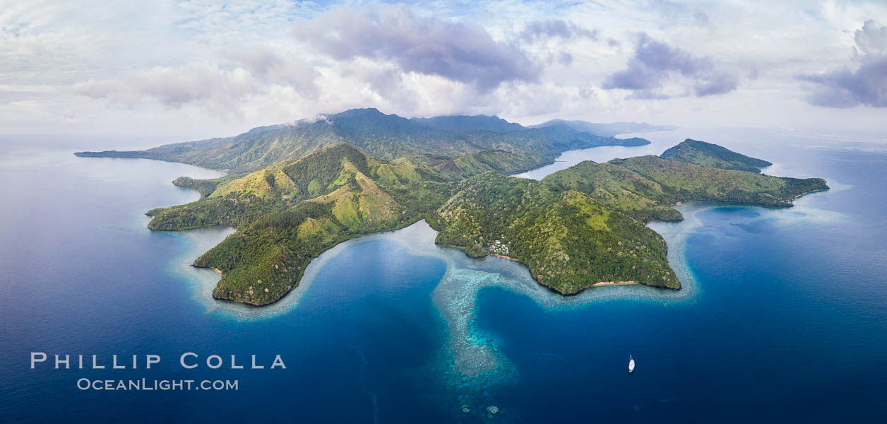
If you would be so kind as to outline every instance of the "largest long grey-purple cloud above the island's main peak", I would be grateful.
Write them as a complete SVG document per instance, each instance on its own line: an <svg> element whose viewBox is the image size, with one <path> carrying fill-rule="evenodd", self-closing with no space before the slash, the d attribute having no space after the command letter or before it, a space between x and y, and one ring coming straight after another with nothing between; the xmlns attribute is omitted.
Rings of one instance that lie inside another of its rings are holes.
<svg viewBox="0 0 887 424"><path fill-rule="evenodd" d="M483 27L419 16L403 4L334 7L298 23L293 34L333 59L386 60L404 72L439 75L483 91L502 82L535 82L542 72L520 47L493 40Z"/></svg>

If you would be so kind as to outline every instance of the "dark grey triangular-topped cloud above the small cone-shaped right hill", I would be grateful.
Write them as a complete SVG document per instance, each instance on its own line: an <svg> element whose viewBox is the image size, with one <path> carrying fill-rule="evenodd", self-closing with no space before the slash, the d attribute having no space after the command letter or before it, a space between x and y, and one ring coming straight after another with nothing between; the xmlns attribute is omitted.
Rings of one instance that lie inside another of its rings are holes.
<svg viewBox="0 0 887 424"><path fill-rule="evenodd" d="M739 85L739 75L707 57L640 34L628 67L609 75L603 88L632 90L633 98L696 97L724 94Z"/></svg>

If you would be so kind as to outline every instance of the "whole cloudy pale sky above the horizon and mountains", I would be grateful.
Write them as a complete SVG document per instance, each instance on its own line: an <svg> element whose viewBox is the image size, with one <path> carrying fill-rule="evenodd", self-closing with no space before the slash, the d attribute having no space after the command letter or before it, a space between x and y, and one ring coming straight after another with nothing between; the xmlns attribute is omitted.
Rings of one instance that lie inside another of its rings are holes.
<svg viewBox="0 0 887 424"><path fill-rule="evenodd" d="M184 141L354 107L887 130L887 2L0 0L0 134Z"/></svg>

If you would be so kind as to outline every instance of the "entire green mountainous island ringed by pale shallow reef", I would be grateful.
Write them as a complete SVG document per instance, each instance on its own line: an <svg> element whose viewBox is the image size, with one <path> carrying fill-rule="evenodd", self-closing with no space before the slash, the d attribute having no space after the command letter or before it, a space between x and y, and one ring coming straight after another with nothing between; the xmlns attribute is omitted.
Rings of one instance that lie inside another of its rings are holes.
<svg viewBox="0 0 887 424"><path fill-rule="evenodd" d="M643 284L679 289L664 239L645 224L683 219L684 200L791 206L821 178L770 177L769 162L687 139L661 156L593 161L541 181L506 177L593 145L642 145L564 123L528 129L495 116L408 120L375 109L262 127L142 152L77 153L182 161L232 175L173 183L200 200L156 208L148 226L238 231L195 266L222 275L217 299L265 305L297 287L311 259L342 241L425 219L436 242L523 263L560 294ZM246 173L244 173L246 172Z"/></svg>

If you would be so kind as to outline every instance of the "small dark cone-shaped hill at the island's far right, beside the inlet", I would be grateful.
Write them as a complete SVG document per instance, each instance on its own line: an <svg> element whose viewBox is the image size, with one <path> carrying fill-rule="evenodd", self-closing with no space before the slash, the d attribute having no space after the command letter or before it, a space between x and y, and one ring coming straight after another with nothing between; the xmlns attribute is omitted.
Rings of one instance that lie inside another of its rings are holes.
<svg viewBox="0 0 887 424"><path fill-rule="evenodd" d="M712 168L750 172L760 172L761 168L773 165L773 163L768 161L750 158L744 154L727 150L719 145L712 145L711 143L690 138L666 150L659 157Z"/></svg>

